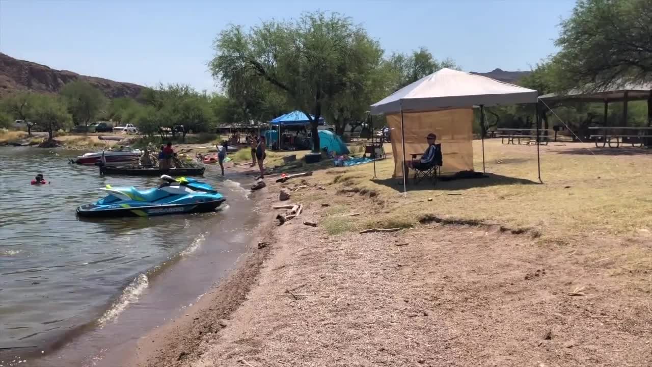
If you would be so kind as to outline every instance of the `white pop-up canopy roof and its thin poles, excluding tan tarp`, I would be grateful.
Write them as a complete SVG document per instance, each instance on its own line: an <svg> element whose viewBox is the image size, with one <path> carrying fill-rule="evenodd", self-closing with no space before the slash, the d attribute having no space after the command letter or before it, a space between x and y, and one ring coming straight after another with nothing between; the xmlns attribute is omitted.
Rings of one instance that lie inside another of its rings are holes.
<svg viewBox="0 0 652 367"><path fill-rule="evenodd" d="M424 78L409 84L409 86L392 93L389 97L372 104L370 112L371 114L385 115L400 114L400 138L402 140L403 162L405 162L404 113L425 113L456 108L470 109L473 106L480 106L481 123L484 125L484 106L537 103L538 95L539 93L533 89L499 82L486 76L445 68L424 76ZM466 116L469 116L469 114L466 114ZM468 121L469 129L473 123L472 114L470 116L471 121ZM537 114L537 136L539 135L538 116L539 114ZM449 121L449 124L458 124L459 121L461 120ZM482 139L482 165L484 167L484 136L482 136ZM538 160L539 144L537 144L537 162ZM404 166L404 163L401 164ZM541 180L541 173L539 173L539 179ZM405 189L405 172L403 172L403 180Z"/></svg>

